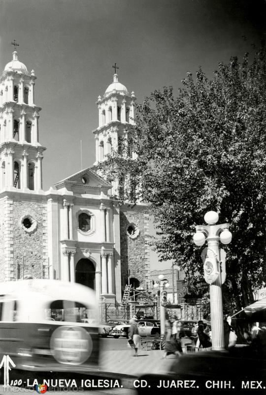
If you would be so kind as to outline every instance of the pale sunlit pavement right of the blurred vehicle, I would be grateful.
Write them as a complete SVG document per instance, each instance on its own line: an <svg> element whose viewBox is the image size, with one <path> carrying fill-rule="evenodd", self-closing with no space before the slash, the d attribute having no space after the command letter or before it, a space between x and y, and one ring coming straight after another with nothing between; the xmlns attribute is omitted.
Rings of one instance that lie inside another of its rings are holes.
<svg viewBox="0 0 266 395"><path fill-rule="evenodd" d="M133 350L101 351L99 368L105 372L140 376L144 373L166 373L173 357L163 358L164 351L143 350L133 357Z"/></svg>

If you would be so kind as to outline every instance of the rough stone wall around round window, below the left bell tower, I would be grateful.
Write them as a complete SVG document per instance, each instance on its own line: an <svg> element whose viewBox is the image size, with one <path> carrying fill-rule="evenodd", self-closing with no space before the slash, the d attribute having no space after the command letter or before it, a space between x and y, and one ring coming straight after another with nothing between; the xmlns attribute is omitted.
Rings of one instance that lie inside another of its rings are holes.
<svg viewBox="0 0 266 395"><path fill-rule="evenodd" d="M33 233L26 232L21 225L21 218L25 215L30 215L37 222ZM45 204L41 201L13 202L13 240L14 270L17 277L23 278L23 274L36 278L48 277Z"/></svg>

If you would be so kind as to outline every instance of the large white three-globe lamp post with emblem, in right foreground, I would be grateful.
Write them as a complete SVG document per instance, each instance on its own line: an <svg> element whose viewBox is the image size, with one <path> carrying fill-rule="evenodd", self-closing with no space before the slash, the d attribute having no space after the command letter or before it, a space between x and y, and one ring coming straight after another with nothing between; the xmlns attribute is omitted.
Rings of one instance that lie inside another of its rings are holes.
<svg viewBox="0 0 266 395"><path fill-rule="evenodd" d="M230 224L216 225L219 216L215 211L209 211L204 216L207 225L197 225L193 240L196 245L205 243L207 248L202 251L204 278L210 284L210 312L212 349L224 350L224 324L222 284L225 281L225 252L219 249L219 240L223 244L229 244L232 234L229 231ZM222 265L222 268L221 268Z"/></svg>

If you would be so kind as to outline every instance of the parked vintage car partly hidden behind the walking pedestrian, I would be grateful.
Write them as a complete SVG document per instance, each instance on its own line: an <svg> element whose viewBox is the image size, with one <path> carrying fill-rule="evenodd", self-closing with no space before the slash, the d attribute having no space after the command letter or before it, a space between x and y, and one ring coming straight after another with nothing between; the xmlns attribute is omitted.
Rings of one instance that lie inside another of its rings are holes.
<svg viewBox="0 0 266 395"><path fill-rule="evenodd" d="M159 336L160 326L158 321L152 319L142 319L137 323L138 333L140 336ZM116 325L112 330L112 336L118 339L119 336L128 338L128 331L130 324L128 325Z"/></svg>

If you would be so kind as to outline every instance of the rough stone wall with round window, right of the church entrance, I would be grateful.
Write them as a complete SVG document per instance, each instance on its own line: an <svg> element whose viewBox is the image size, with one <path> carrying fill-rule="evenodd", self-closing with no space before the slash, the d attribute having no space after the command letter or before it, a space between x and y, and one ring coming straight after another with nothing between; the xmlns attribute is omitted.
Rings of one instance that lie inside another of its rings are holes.
<svg viewBox="0 0 266 395"><path fill-rule="evenodd" d="M127 234L130 224L135 224L139 234L131 238ZM139 286L146 289L147 276L149 275L149 248L147 246L148 214L144 209L122 207L120 209L120 240L121 240L121 282L122 288L130 277L139 281Z"/></svg>

